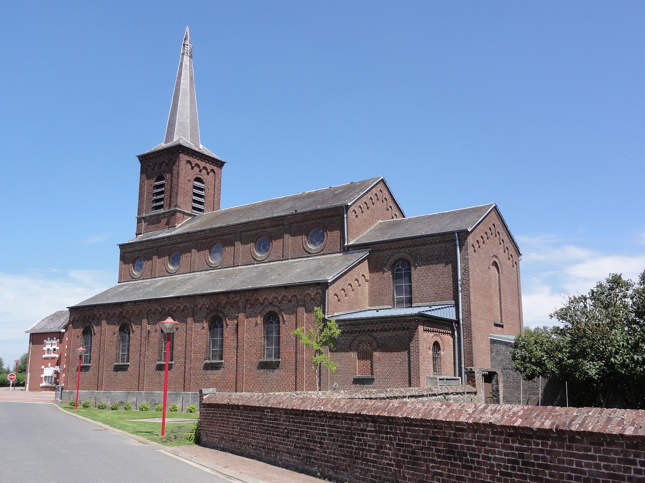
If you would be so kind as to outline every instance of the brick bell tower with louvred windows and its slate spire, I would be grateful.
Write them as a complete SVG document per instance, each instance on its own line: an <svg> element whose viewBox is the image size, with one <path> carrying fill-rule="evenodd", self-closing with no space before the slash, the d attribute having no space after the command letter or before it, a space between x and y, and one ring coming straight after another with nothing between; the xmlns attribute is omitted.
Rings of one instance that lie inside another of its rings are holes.
<svg viewBox="0 0 645 483"><path fill-rule="evenodd" d="M137 236L219 210L224 161L199 140L192 49L186 27L166 136L162 144L137 156Z"/></svg>

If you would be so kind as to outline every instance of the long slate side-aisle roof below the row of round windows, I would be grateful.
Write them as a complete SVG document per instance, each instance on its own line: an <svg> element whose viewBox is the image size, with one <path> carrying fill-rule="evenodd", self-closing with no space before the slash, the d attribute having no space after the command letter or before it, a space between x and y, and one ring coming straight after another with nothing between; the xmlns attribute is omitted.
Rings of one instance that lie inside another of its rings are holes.
<svg viewBox="0 0 645 483"><path fill-rule="evenodd" d="M368 251L279 260L118 283L72 307L186 297L310 283L326 283L365 258Z"/></svg>

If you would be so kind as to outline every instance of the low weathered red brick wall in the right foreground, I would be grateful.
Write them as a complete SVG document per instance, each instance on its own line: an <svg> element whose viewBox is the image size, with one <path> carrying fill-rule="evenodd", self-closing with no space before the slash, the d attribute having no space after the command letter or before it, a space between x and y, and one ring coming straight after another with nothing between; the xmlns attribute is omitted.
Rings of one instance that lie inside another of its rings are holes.
<svg viewBox="0 0 645 483"><path fill-rule="evenodd" d="M645 411L214 393L201 444L339 482L642 482Z"/></svg>

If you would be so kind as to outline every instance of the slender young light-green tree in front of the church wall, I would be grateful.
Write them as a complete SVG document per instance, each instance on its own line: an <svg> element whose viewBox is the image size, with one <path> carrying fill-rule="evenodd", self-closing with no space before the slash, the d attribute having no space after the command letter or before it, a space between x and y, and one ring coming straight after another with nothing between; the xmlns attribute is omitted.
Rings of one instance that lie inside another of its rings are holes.
<svg viewBox="0 0 645 483"><path fill-rule="evenodd" d="M313 308L313 319L313 327L310 328L309 334L304 332L304 327L299 327L291 335L298 337L304 346L313 349L311 361L316 373L316 390L319 391L321 390L321 365L332 372L337 368L337 364L325 353L325 348L333 350L333 339L341 335L341 329L338 328L335 319L324 318L323 309L320 307Z"/></svg>

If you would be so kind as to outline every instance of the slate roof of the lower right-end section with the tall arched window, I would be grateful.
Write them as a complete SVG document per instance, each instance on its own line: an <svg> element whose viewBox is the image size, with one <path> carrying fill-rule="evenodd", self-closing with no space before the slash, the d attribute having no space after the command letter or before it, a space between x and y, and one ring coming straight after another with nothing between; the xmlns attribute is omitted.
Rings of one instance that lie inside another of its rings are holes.
<svg viewBox="0 0 645 483"><path fill-rule="evenodd" d="M491 203L442 213L413 216L412 218L385 220L376 223L350 245L385 242L455 231L471 231L493 207L495 207L495 204Z"/></svg>

